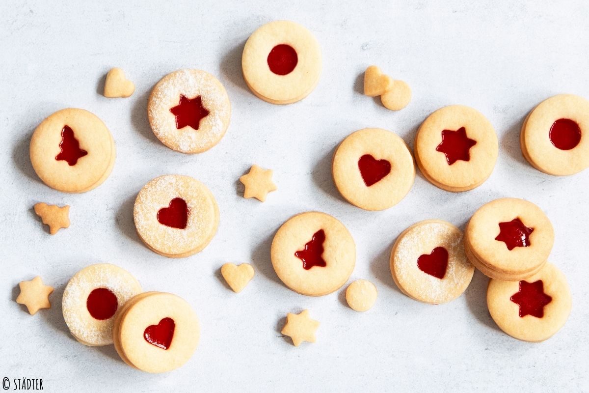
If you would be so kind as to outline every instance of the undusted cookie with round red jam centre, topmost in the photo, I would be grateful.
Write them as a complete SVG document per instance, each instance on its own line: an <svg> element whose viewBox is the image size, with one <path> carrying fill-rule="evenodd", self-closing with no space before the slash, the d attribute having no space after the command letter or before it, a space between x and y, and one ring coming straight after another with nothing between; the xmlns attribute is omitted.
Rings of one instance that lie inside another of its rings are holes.
<svg viewBox="0 0 589 393"><path fill-rule="evenodd" d="M252 92L272 104L307 97L321 74L321 49L313 34L290 21L274 21L250 35L241 55L243 78Z"/></svg>

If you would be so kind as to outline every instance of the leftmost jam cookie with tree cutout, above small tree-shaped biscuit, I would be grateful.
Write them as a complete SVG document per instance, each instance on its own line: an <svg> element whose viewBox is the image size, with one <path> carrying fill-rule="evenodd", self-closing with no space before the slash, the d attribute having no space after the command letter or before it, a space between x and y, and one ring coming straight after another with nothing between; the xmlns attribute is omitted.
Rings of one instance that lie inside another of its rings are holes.
<svg viewBox="0 0 589 393"><path fill-rule="evenodd" d="M39 178L67 193L100 186L116 156L114 140L102 120L78 108L59 110L43 120L31 137L29 154Z"/></svg>

